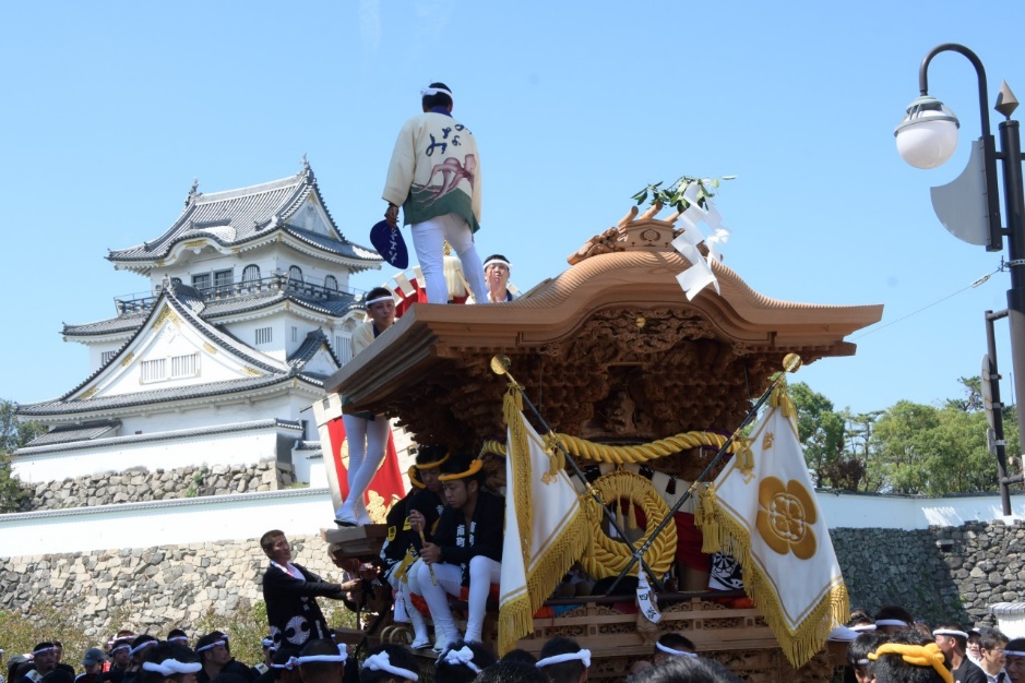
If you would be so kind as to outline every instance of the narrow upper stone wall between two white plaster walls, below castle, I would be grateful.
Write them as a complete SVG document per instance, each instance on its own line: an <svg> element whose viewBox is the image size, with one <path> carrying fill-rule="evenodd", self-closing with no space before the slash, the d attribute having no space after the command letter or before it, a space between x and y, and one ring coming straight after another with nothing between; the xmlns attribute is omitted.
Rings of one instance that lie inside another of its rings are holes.
<svg viewBox="0 0 1025 683"><path fill-rule="evenodd" d="M22 512L94 507L116 503L166 501L203 495L278 491L295 482L291 465L273 459L255 465L132 468L62 481L28 484Z"/></svg>

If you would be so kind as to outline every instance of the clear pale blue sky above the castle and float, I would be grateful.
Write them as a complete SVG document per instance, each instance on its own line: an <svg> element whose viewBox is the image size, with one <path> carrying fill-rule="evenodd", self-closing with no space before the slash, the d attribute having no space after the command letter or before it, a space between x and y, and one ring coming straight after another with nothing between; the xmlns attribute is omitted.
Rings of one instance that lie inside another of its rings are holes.
<svg viewBox="0 0 1025 683"><path fill-rule="evenodd" d="M0 397L75 386L87 352L62 322L146 289L108 248L160 235L193 178L215 192L284 178L309 156L347 238L367 243L395 134L418 91L448 83L476 134L482 255L522 289L615 225L647 182L738 178L717 206L726 263L761 293L883 303L851 358L803 369L837 407L960 395L979 371L982 312L1006 307L1000 254L960 242L929 187L979 136L967 60L937 58L930 93L961 117L944 167L897 156L893 128L934 45L963 43L1025 96L1013 39L1025 3L24 2L5 9L0 74ZM1000 37L1003 36L1003 37ZM998 115L993 113L996 132ZM389 271L359 276L365 289ZM998 326L1011 395L1005 324Z"/></svg>

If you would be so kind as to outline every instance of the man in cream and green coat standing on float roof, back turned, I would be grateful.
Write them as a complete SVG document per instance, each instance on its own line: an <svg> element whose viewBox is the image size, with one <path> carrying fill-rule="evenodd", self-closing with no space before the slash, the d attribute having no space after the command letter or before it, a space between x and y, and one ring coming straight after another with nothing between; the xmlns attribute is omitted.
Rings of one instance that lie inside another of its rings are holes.
<svg viewBox="0 0 1025 683"><path fill-rule="evenodd" d="M452 91L431 83L420 91L424 113L398 132L382 199L384 219L412 225L413 248L427 280L429 303L448 303L444 242L463 264L474 299L488 300L474 233L480 228L480 157L469 130L452 118Z"/></svg>

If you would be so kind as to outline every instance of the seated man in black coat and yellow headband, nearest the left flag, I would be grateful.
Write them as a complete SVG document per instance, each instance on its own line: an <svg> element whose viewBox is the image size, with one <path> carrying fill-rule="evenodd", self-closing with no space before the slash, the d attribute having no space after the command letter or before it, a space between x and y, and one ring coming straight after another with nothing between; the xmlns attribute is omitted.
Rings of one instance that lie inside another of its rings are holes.
<svg viewBox="0 0 1025 683"><path fill-rule="evenodd" d="M449 596L462 597L466 587L465 639L480 640L488 594L502 575L505 501L481 488L482 465L465 454L453 454L441 465L438 478L446 506L433 538L420 550L424 563L417 580L434 621L437 645L442 647L460 637ZM409 523L419 530L424 518L412 517Z"/></svg>

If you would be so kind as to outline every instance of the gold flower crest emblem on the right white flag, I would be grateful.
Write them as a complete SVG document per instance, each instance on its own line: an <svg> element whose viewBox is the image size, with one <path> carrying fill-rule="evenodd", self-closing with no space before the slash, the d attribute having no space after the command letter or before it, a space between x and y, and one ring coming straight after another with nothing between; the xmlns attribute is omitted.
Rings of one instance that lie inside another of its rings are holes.
<svg viewBox="0 0 1025 683"><path fill-rule="evenodd" d="M780 555L792 551L801 560L815 554L814 529L818 519L811 494L800 481L787 483L766 477L758 488L758 532Z"/></svg>

